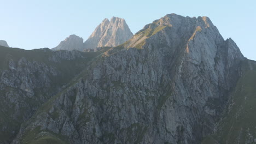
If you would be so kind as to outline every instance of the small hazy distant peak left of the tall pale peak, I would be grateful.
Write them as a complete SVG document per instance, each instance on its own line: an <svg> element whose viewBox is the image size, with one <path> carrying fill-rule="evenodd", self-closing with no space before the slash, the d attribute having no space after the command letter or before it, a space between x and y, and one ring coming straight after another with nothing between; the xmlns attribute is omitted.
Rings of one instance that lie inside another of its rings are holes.
<svg viewBox="0 0 256 144"><path fill-rule="evenodd" d="M68 38L65 40L61 41L61 43L54 47L52 50L79 50L83 51L84 49L84 40L83 38L78 37L77 35L69 35Z"/></svg>

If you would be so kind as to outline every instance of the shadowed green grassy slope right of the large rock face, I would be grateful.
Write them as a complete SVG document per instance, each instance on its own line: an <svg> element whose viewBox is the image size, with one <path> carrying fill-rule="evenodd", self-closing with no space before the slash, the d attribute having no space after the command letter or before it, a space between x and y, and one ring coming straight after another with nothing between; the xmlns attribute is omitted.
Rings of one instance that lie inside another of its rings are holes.
<svg viewBox="0 0 256 144"><path fill-rule="evenodd" d="M243 74L231 94L226 116L220 121L217 132L206 137L202 143L253 143L256 139L255 111L256 62L247 61L243 64Z"/></svg>

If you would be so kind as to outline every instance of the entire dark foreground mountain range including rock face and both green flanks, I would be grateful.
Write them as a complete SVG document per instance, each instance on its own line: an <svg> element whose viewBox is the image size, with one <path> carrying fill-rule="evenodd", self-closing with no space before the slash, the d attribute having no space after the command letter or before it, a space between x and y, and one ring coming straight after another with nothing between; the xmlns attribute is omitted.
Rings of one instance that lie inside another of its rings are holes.
<svg viewBox="0 0 256 144"><path fill-rule="evenodd" d="M208 17L97 52L0 53L0 143L255 142L256 62Z"/></svg>

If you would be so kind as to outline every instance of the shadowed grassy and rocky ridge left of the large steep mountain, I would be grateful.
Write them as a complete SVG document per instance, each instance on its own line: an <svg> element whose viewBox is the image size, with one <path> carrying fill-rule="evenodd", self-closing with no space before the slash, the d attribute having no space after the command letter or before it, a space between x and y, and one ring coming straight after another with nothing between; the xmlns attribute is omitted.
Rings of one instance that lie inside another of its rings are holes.
<svg viewBox="0 0 256 144"><path fill-rule="evenodd" d="M68 87L94 53L0 46L0 143L10 143L41 104Z"/></svg>

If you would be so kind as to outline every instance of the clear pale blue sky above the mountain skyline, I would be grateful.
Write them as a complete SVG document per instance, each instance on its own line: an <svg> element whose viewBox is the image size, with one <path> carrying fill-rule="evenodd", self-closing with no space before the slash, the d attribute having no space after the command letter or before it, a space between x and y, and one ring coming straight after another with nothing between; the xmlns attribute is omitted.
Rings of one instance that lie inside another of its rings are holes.
<svg viewBox="0 0 256 144"><path fill-rule="evenodd" d="M255 0L59 1L0 0L0 39L22 49L55 47L70 34L86 40L104 18L124 18L136 33L166 14L208 16L224 39L232 38L243 55L256 60Z"/></svg>

